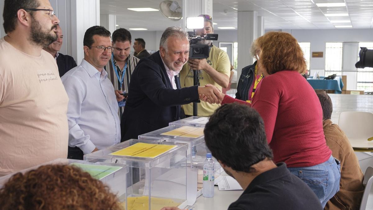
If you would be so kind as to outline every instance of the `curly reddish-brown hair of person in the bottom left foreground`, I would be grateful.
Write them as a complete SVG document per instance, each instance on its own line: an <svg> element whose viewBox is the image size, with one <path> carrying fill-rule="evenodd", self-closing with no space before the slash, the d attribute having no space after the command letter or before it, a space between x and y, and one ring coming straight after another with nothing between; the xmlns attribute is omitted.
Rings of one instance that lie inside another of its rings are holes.
<svg viewBox="0 0 373 210"><path fill-rule="evenodd" d="M0 189L0 208L123 209L109 187L75 166L45 165L16 173Z"/></svg>

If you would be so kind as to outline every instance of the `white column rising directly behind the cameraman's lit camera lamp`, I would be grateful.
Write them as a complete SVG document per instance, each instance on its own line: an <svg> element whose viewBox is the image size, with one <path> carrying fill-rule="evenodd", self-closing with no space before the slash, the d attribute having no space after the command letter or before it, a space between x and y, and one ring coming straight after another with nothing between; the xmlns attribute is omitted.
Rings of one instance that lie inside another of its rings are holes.
<svg viewBox="0 0 373 210"><path fill-rule="evenodd" d="M198 15L210 15L212 17L212 0L183 0L182 11L181 27L187 30L186 18L197 17Z"/></svg>

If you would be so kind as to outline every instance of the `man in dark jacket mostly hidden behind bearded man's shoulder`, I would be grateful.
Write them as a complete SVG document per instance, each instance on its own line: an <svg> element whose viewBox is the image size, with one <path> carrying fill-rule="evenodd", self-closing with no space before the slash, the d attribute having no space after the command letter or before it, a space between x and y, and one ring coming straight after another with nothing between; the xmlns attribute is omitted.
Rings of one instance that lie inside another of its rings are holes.
<svg viewBox="0 0 373 210"><path fill-rule="evenodd" d="M62 77L70 69L76 67L76 62L73 57L69 55L63 55L62 53L58 52L60 51L63 42L62 29L58 24L56 34L57 40L48 45L47 47L44 47L43 50L46 50L53 56L54 59L56 59L58 72L60 74L60 77Z"/></svg>

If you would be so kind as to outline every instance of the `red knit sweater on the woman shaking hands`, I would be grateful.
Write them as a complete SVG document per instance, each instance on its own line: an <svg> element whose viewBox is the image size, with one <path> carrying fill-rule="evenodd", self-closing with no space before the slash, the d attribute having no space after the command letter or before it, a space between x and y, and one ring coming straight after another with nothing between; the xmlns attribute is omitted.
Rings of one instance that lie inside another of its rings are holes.
<svg viewBox="0 0 373 210"><path fill-rule="evenodd" d="M265 77L258 85L253 104L228 95L222 104L233 102L251 105L259 112L275 163L315 166L332 155L325 142L319 98L297 71L279 71Z"/></svg>

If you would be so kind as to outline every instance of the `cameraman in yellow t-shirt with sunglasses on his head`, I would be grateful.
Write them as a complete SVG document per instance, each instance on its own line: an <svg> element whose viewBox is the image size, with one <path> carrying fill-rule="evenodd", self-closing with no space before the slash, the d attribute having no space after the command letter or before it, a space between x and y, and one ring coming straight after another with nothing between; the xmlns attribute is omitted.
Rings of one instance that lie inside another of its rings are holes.
<svg viewBox="0 0 373 210"><path fill-rule="evenodd" d="M204 18L204 28L197 29L196 35L203 37L206 34L213 34L213 22L210 15L199 15ZM231 73L231 63L228 54L212 44L211 40L201 40L197 44L207 44L210 46L209 58L189 59L180 72L182 87L193 86L193 70L199 70L200 86L213 84L218 89L226 88L229 84ZM209 104L201 101L198 103L198 116L210 116L219 105ZM193 103L183 105L186 117L193 115Z"/></svg>

